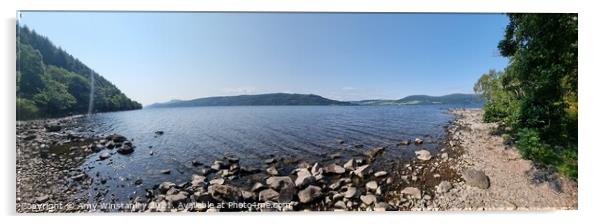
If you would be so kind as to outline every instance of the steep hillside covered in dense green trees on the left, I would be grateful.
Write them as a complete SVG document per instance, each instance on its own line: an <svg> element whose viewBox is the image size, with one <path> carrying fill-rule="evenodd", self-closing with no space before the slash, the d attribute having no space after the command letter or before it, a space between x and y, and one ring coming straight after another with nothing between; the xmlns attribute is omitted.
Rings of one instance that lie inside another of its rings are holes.
<svg viewBox="0 0 602 224"><path fill-rule="evenodd" d="M142 108L48 38L17 25L18 120L87 113L92 89L92 112Z"/></svg>

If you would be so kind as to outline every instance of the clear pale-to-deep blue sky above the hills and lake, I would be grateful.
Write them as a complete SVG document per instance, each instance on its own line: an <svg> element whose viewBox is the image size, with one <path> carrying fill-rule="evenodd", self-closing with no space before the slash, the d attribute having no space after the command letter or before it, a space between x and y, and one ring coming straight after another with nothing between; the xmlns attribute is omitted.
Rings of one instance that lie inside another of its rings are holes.
<svg viewBox="0 0 602 224"><path fill-rule="evenodd" d="M272 92L336 100L470 93L508 60L502 14L23 12L148 105Z"/></svg>

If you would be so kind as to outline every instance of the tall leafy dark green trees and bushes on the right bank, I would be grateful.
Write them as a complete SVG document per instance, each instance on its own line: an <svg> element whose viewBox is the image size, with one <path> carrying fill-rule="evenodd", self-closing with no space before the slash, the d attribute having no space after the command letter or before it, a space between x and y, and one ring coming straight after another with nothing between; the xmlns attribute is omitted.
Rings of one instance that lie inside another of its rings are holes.
<svg viewBox="0 0 602 224"><path fill-rule="evenodd" d="M577 15L509 14L499 42L510 59L481 76L484 120L527 159L577 178Z"/></svg>

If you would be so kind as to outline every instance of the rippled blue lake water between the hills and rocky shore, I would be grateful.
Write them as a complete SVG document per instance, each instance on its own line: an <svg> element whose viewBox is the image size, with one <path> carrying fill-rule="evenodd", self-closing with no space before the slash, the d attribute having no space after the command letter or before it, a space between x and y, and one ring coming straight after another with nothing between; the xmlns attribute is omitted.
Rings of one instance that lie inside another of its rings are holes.
<svg viewBox="0 0 602 224"><path fill-rule="evenodd" d="M124 135L136 149L105 161L92 155L84 169L109 179L98 185L101 190L104 186L127 199L162 181L188 181L198 169L192 160L210 165L225 154L259 168L271 155L312 162L336 152L348 157L387 146L386 158L401 161L413 158L416 148L396 146L400 140L420 137L426 142L421 147L437 150L444 125L453 118L447 113L450 107L458 106L230 106L97 114L86 119L86 129ZM159 130L164 134L155 135ZM358 144L364 147L354 147ZM160 174L161 169L172 173ZM135 186L139 178L144 184Z"/></svg>

